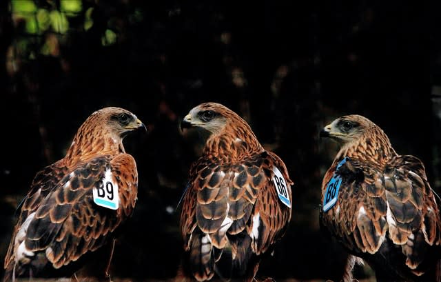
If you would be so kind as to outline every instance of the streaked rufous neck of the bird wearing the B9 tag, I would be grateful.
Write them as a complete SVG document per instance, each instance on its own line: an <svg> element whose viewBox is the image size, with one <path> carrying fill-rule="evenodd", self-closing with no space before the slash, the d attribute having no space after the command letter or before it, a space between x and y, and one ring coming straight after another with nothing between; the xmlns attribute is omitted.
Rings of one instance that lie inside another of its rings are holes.
<svg viewBox="0 0 441 282"><path fill-rule="evenodd" d="M125 152L121 137L107 134L109 132L103 134L102 128L99 129L97 132L79 130L66 152L65 159L68 165L88 161L96 155L114 155Z"/></svg>

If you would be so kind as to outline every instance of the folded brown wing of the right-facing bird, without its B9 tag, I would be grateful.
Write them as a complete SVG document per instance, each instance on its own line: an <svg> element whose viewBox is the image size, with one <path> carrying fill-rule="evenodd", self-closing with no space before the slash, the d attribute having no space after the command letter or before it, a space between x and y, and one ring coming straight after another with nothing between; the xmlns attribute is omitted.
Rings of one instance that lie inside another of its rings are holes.
<svg viewBox="0 0 441 282"><path fill-rule="evenodd" d="M103 185L106 170L112 172L112 181L119 187L118 210L99 207L93 200L92 189ZM54 268L76 261L107 242L111 232L132 213L136 193L136 165L130 155L97 157L83 163L41 200L30 221L25 247L30 252L44 251Z"/></svg>

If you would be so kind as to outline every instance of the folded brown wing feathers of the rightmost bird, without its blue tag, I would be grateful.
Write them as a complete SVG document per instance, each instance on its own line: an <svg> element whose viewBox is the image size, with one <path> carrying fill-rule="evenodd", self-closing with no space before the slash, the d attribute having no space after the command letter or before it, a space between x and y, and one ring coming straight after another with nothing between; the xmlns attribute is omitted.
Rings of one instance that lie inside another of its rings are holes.
<svg viewBox="0 0 441 282"><path fill-rule="evenodd" d="M325 175L322 197L336 172L335 163ZM351 159L336 174L342 177L338 201L320 216L322 224L354 254L385 252L380 248L390 239L400 246L403 263L422 274L419 265L424 265L429 246L441 244L441 228L421 161L397 156L385 168L377 168Z"/></svg>

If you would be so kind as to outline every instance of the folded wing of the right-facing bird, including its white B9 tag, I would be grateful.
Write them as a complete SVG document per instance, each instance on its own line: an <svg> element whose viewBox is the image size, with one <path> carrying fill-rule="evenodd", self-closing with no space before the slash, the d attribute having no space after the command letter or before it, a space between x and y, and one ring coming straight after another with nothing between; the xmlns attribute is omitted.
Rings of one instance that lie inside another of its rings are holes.
<svg viewBox="0 0 441 282"><path fill-rule="evenodd" d="M127 190L131 182L134 188L130 189L136 189L136 166L130 169L127 165L134 165L128 154L98 155L70 168L52 169L53 178L49 168L43 170L34 183L48 192L40 193L39 204L32 210L26 210L25 201L14 238L23 228L27 232L11 241L7 257L16 249L12 245L25 241L28 252L47 250L48 261L59 268L101 247L130 215L136 200L136 190L121 197L121 190ZM46 188L48 183L52 186Z"/></svg>

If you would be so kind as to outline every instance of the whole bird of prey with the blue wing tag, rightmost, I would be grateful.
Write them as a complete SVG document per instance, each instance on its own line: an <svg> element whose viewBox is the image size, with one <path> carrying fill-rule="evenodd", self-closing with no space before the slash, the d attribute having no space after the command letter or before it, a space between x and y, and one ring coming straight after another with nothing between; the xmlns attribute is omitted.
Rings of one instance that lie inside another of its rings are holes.
<svg viewBox="0 0 441 282"><path fill-rule="evenodd" d="M339 117L320 137L340 145L322 180L320 225L350 254L344 280L362 258L377 281L441 281L438 195L422 161L397 154L360 115Z"/></svg>

